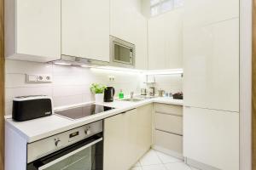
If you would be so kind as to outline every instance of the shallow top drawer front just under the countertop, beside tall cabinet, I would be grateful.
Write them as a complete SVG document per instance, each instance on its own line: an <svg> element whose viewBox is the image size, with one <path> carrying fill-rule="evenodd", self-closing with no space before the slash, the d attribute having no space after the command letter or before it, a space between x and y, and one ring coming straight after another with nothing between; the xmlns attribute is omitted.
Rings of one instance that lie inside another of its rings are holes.
<svg viewBox="0 0 256 170"><path fill-rule="evenodd" d="M181 105L154 104L154 111L170 115L183 116L183 106Z"/></svg>

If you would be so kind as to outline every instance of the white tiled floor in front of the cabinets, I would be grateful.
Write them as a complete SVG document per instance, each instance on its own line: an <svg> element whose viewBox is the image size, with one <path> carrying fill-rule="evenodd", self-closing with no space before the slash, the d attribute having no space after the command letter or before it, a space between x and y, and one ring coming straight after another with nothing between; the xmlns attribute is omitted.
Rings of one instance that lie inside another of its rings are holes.
<svg viewBox="0 0 256 170"><path fill-rule="evenodd" d="M182 160L156 150L149 150L131 170L198 170L189 167Z"/></svg>

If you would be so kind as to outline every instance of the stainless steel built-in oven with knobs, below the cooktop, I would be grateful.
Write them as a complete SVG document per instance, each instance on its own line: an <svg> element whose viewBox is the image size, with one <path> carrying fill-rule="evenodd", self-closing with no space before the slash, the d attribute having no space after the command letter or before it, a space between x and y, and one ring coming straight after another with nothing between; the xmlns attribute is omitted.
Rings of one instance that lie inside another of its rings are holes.
<svg viewBox="0 0 256 170"><path fill-rule="evenodd" d="M27 170L102 170L102 121L27 144Z"/></svg>

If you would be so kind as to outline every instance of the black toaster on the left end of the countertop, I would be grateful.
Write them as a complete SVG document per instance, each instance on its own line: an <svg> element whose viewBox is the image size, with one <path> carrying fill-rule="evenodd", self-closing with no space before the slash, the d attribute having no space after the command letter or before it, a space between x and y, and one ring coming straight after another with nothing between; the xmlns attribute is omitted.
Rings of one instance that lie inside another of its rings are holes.
<svg viewBox="0 0 256 170"><path fill-rule="evenodd" d="M49 96L20 96L13 99L13 119L18 122L52 115L52 100Z"/></svg>

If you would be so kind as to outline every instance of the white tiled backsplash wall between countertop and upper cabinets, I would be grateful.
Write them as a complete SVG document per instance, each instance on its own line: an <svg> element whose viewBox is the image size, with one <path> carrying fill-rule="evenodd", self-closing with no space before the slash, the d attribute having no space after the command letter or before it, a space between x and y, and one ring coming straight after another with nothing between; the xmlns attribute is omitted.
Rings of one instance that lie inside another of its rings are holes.
<svg viewBox="0 0 256 170"><path fill-rule="evenodd" d="M26 74L49 74L52 83L26 83ZM72 105L91 101L90 84L99 82L128 95L131 91L140 93L144 76L125 71L106 71L73 66L52 65L28 61L6 60L5 66L5 115L11 114L12 99L20 95L44 94L53 98L55 106ZM109 82L108 76L115 77ZM156 76L156 87L168 91L180 91L182 79L177 76Z"/></svg>

